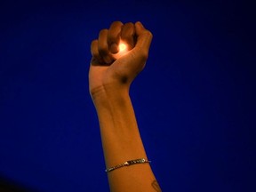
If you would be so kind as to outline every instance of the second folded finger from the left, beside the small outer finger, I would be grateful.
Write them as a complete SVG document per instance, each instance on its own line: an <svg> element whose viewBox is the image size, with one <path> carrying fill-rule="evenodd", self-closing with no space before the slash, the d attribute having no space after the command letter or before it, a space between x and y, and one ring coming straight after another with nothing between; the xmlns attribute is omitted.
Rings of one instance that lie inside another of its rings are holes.
<svg viewBox="0 0 256 192"><path fill-rule="evenodd" d="M98 40L98 49L99 49L100 57L102 57L106 63L108 64L111 63L112 59L109 56L109 52L108 52L108 29L100 30L100 35Z"/></svg>

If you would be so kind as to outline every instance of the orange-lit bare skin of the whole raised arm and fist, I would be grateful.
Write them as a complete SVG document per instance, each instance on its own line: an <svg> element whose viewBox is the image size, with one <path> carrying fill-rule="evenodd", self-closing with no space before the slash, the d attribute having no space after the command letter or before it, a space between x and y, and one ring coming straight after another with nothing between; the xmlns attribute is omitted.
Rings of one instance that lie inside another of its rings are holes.
<svg viewBox="0 0 256 192"><path fill-rule="evenodd" d="M129 52L117 60L120 41L128 44ZM107 167L125 161L148 159L129 96L130 85L145 67L152 34L140 22L123 24L115 21L100 30L92 41L89 86L97 110L100 135ZM133 164L108 172L113 192L161 191L150 164Z"/></svg>

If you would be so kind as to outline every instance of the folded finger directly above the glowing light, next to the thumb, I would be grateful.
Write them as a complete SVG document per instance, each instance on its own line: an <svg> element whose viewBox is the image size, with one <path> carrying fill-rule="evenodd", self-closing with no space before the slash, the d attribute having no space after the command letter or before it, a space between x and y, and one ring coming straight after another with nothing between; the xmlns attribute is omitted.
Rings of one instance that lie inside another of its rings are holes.
<svg viewBox="0 0 256 192"><path fill-rule="evenodd" d="M135 35L135 27L132 22L125 23L122 32L121 39L128 44L128 49L131 50L134 47L134 35Z"/></svg>

